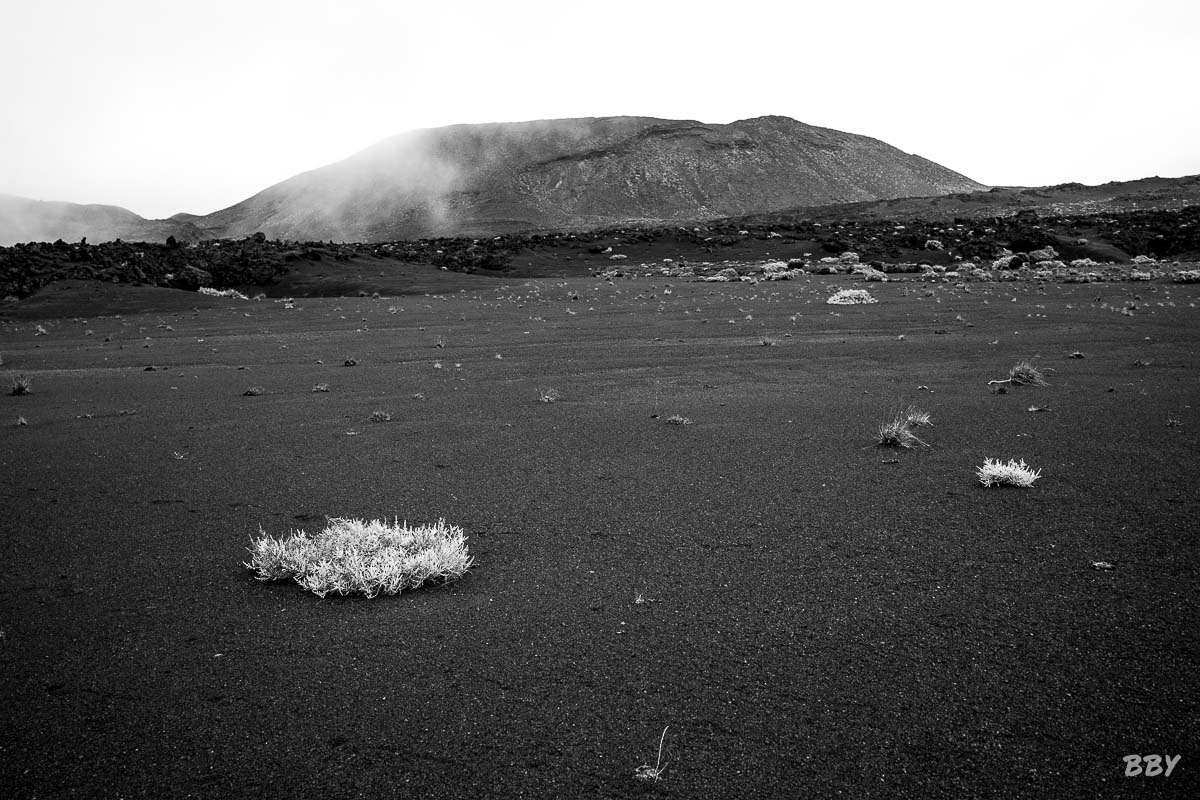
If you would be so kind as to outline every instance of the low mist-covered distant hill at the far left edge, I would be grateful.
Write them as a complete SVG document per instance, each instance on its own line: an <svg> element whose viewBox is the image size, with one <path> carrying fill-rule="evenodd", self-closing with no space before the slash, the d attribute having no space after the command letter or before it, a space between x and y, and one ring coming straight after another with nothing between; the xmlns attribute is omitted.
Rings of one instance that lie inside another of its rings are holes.
<svg viewBox="0 0 1200 800"><path fill-rule="evenodd" d="M26 241L95 242L124 239L126 241L179 241L202 237L196 225L170 219L145 219L128 209L115 205L79 205L30 200L0 194L0 246Z"/></svg>

